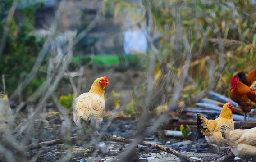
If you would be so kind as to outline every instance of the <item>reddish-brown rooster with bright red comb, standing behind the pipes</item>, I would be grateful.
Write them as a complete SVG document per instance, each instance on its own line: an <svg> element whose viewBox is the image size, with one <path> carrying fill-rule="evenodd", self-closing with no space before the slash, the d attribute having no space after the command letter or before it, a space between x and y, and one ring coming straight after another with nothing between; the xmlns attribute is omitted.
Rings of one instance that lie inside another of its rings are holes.
<svg viewBox="0 0 256 162"><path fill-rule="evenodd" d="M249 113L251 109L256 108L255 90L252 90L247 85L243 84L242 81L239 81L238 76L233 76L230 83L229 97L234 102L238 103L238 107L244 112L244 121L246 121L247 113Z"/></svg>

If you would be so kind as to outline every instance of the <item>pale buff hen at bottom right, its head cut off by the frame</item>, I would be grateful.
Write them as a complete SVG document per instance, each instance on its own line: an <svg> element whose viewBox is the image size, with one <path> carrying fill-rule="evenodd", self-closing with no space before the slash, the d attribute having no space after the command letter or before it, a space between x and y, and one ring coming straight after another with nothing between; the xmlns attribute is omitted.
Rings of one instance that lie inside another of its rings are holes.
<svg viewBox="0 0 256 162"><path fill-rule="evenodd" d="M219 127L219 131L226 139L232 153L241 159L252 158L256 160L256 127L251 129L236 129L232 130L226 124Z"/></svg>

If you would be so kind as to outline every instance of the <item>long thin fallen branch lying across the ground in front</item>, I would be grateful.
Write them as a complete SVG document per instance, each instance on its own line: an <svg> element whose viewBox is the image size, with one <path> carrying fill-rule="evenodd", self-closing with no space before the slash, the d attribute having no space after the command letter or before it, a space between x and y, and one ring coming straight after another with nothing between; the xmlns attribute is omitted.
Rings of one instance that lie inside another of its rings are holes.
<svg viewBox="0 0 256 162"><path fill-rule="evenodd" d="M115 141L115 142L123 142L123 143L131 143L133 142L134 139L130 139L130 138L124 138L124 137L113 137L110 135L101 135L100 136L101 140L103 141ZM88 139L84 139L81 136L78 137L71 137L71 140L69 140L70 143L75 144L75 142L78 140L88 140ZM38 144L31 144L28 146L25 146L25 149L27 150L33 150L33 149L37 149L37 148L42 148L42 147L46 147L46 146L52 146L52 145L56 145L56 144L63 144L67 142L67 139L54 139L54 140L50 140L50 141L45 141L45 142L41 142ZM184 155L183 153L179 153L178 151L175 151L171 148L162 146L160 144L155 144L152 142L147 142L144 140L141 140L138 144L143 145L143 146L148 146L151 148L155 148L161 151L165 151L167 153L171 153L179 158L182 158L184 160L186 160L187 162L195 162L194 159L187 157L186 155Z"/></svg>

